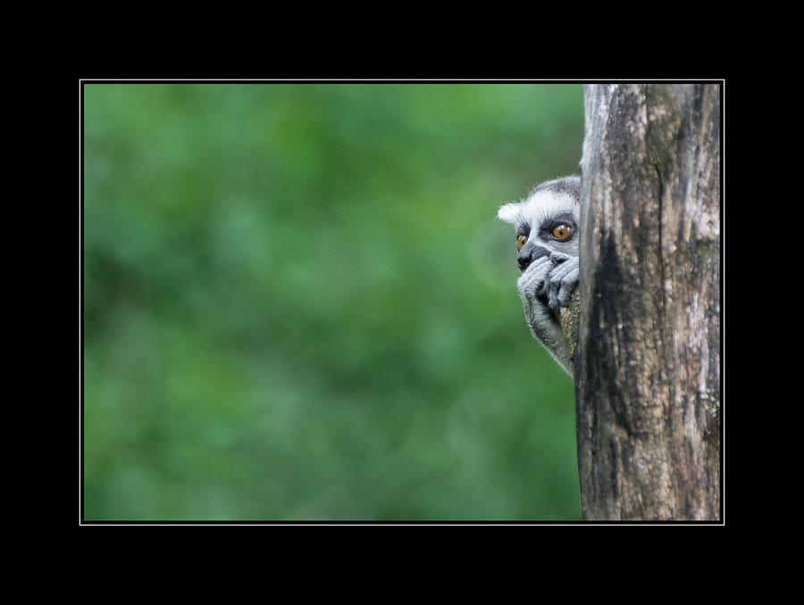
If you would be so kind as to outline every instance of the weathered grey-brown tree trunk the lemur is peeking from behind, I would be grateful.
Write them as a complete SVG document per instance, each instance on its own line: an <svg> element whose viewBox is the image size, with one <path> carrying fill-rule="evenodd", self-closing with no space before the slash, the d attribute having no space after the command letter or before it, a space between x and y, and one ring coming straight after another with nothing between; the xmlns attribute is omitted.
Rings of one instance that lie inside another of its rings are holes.
<svg viewBox="0 0 804 605"><path fill-rule="evenodd" d="M585 519L720 519L720 95L718 84L585 90Z"/></svg>

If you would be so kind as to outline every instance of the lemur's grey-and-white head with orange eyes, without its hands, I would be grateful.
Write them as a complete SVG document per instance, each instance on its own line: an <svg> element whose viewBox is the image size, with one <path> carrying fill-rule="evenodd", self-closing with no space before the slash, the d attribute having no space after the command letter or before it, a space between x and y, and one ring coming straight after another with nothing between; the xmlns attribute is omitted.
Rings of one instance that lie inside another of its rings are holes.
<svg viewBox="0 0 804 605"><path fill-rule="evenodd" d="M522 202L507 203L498 218L516 228L516 263L524 271L550 253L578 256L581 179L563 177L532 189Z"/></svg>

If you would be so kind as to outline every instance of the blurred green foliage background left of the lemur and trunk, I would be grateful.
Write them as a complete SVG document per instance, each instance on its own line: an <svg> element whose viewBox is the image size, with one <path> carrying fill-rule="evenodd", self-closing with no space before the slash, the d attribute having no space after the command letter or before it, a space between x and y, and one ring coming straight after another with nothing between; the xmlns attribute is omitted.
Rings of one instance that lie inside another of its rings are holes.
<svg viewBox="0 0 804 605"><path fill-rule="evenodd" d="M84 84L87 520L581 518L502 203L582 87Z"/></svg>

